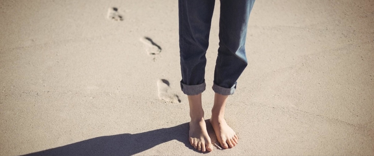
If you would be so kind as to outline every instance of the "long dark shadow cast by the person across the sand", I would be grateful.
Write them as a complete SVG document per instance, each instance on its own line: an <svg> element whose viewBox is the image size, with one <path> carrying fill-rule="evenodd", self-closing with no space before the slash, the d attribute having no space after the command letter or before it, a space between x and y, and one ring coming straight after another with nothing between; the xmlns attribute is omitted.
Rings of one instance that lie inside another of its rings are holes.
<svg viewBox="0 0 374 156"><path fill-rule="evenodd" d="M205 121L207 127L211 127L209 120ZM175 127L142 132L138 134L117 134L96 137L76 143L68 144L53 149L47 149L26 156L89 156L89 155L135 155L148 150L156 145L178 140L191 150L195 150L188 141L189 124L184 123ZM208 128L210 130L210 128ZM208 130L208 132L209 132ZM210 130L212 131L212 130Z"/></svg>

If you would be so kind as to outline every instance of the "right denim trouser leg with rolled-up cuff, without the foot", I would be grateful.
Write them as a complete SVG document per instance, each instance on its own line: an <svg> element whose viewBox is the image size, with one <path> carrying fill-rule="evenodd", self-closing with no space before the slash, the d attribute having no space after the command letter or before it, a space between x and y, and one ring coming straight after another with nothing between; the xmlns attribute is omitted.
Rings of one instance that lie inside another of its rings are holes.
<svg viewBox="0 0 374 156"><path fill-rule="evenodd" d="M254 0L221 0L220 43L214 71L215 93L231 95L248 65L245 38Z"/></svg>

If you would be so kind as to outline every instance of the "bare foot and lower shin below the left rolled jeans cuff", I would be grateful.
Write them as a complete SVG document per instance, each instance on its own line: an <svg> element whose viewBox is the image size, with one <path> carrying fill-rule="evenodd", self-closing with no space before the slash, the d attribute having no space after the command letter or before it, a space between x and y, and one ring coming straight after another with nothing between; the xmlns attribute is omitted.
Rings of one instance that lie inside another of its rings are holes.
<svg viewBox="0 0 374 156"><path fill-rule="evenodd" d="M190 104L191 116L188 140L191 145L199 151L212 151L213 145L206 131L204 111L201 106L201 94L188 96L188 103Z"/></svg>

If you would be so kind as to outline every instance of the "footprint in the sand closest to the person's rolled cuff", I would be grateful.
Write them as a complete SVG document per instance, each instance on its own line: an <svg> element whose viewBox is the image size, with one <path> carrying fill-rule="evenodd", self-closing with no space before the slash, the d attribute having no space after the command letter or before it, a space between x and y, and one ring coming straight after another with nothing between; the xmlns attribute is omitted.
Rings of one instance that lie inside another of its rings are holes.
<svg viewBox="0 0 374 156"><path fill-rule="evenodd" d="M169 86L169 81L166 79L159 79L157 81L157 87L159 91L159 98L160 100L164 100L166 102L172 102L172 103L177 103L181 102L179 97L175 94L169 93L170 86Z"/></svg>

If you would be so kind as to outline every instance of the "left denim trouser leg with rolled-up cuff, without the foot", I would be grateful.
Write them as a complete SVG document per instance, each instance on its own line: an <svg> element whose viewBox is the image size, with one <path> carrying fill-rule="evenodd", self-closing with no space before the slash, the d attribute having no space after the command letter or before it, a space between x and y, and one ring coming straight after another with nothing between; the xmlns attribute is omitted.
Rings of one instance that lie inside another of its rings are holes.
<svg viewBox="0 0 374 156"><path fill-rule="evenodd" d="M205 90L205 53L209 45L214 0L178 2L181 89L184 94L197 95Z"/></svg>

